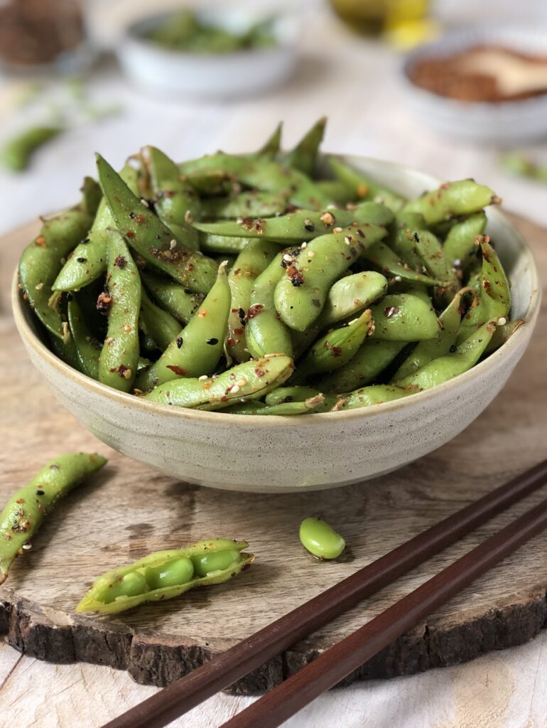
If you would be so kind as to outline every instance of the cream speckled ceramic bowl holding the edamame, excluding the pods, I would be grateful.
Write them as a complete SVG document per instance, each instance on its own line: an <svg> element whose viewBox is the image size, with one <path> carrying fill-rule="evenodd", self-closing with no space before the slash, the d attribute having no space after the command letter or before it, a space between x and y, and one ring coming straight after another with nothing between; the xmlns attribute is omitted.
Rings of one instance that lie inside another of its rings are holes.
<svg viewBox="0 0 547 728"><path fill-rule="evenodd" d="M432 189L430 175L375 159L346 158L409 197ZM47 349L14 277L15 323L53 394L111 447L191 483L282 493L366 480L430 453L458 435L492 401L524 353L540 288L530 248L498 209L488 232L511 280L512 317L525 324L471 371L445 384L372 407L299 417L177 409L105 387Z"/></svg>

